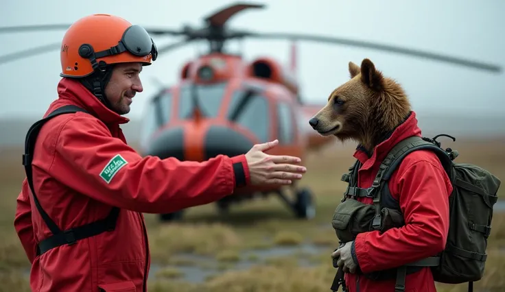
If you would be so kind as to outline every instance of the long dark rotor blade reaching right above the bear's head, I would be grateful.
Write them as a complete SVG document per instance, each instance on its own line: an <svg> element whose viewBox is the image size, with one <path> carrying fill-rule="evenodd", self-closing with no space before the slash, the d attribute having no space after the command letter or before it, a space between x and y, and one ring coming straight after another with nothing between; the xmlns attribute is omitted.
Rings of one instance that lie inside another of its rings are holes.
<svg viewBox="0 0 505 292"><path fill-rule="evenodd" d="M365 42L362 40L350 40L346 38L336 38L330 36L317 36L317 35L307 35L307 34L288 34L288 33L244 33L243 36L250 38L285 38L289 40L308 40L314 42L326 42L334 45L347 45L352 47L362 47L368 49L376 49L379 51L388 51L392 53L400 53L407 56L413 56L418 58L427 58L432 60L438 60L441 62L447 62L450 64L457 64L460 66L466 66L473 69L480 69L484 71L491 72L501 72L502 68L495 64L488 64L483 62L477 62L462 58L456 58L452 56L442 55L439 53L430 53L427 51L420 51L416 49L408 49L404 47L396 47L392 45L378 44L375 42Z"/></svg>

